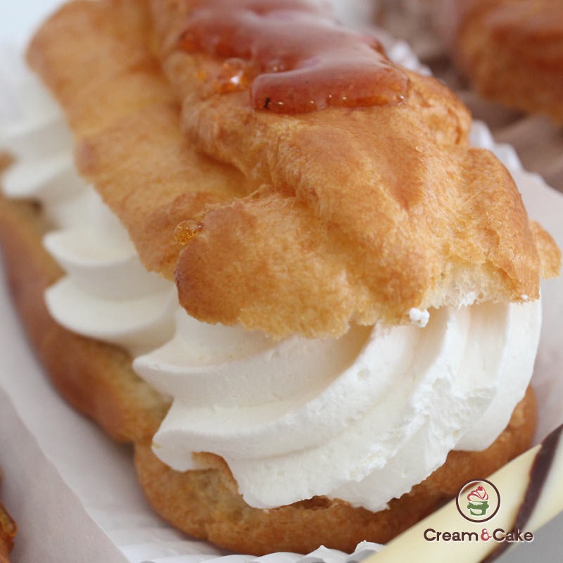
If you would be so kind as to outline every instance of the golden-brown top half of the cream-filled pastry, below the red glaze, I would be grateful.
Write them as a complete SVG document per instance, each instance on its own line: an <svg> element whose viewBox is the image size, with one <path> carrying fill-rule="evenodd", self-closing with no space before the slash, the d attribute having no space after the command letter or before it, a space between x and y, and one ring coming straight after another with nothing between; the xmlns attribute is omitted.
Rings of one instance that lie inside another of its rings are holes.
<svg viewBox="0 0 563 563"><path fill-rule="evenodd" d="M151 4L158 39L174 44L189 2ZM77 1L29 60L147 267L170 276L175 223L203 220L175 270L191 315L338 336L467 293L538 297L540 261L555 258L540 258L512 178L469 148L469 114L437 81L410 73L402 106L269 115L247 92L209 96L198 77L222 63L210 56L163 49L167 82L148 37L144 1Z"/></svg>

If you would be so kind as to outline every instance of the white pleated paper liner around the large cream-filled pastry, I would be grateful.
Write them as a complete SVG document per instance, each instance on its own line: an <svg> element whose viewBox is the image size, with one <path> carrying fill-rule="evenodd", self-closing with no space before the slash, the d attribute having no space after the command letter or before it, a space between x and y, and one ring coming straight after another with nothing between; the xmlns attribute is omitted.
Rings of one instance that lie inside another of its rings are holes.
<svg viewBox="0 0 563 563"><path fill-rule="evenodd" d="M428 72L405 42L379 34L391 58ZM14 115L17 104L14 88L20 63L14 53L0 49L0 120ZM505 163L529 215L540 220L563 248L563 196L525 172L510 146L494 144L485 125L474 125L472 141L490 148ZM562 279L543 284L543 304L533 378L540 405L537 440L563 422ZM110 441L49 386L32 358L5 286L0 289L0 318L0 465L6 474L4 502L20 529L14 562L355 563L379 549L362 543L350 556L319 548L305 557L290 553L252 557L224 555L209 543L190 540L146 504L130 448Z"/></svg>

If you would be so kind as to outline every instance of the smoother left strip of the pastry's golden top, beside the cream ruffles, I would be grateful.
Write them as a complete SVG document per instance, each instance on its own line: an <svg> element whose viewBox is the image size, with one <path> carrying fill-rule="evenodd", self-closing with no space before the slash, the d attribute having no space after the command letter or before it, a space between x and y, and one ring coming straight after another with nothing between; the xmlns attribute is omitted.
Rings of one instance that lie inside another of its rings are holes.
<svg viewBox="0 0 563 563"><path fill-rule="evenodd" d="M28 56L65 108L82 174L95 179L148 270L171 278L182 249L176 225L246 191L238 170L196 153L182 135L179 104L147 45L141 5L66 4Z"/></svg>

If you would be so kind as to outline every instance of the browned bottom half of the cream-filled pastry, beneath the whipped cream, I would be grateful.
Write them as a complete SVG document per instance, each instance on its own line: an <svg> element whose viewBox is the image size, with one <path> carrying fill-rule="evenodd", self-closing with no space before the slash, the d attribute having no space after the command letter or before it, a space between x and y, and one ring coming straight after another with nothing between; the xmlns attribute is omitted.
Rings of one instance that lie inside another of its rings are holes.
<svg viewBox="0 0 563 563"><path fill-rule="evenodd" d="M452 451L410 493L374 513L315 497L272 510L248 506L227 464L201 454L206 469L175 472L151 451L170 403L132 370L130 356L63 329L49 315L44 289L62 273L44 251L39 205L0 197L0 243L8 285L29 339L61 395L118 441L134 444L141 487L153 508L177 528L236 552L306 553L319 545L350 552L361 540L386 543L452 498L462 483L485 477L529 448L536 426L531 388L505 431L482 452Z"/></svg>

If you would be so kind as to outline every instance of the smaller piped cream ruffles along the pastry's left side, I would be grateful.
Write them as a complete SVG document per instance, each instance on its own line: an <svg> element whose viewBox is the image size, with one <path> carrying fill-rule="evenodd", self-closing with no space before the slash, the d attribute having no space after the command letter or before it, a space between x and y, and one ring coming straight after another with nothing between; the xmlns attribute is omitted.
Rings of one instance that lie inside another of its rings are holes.
<svg viewBox="0 0 563 563"><path fill-rule="evenodd" d="M18 120L0 128L0 146L16 158L3 189L41 202L54 227L44 246L67 276L46 291L49 312L71 331L133 353L160 346L174 332L175 287L144 269L117 217L77 175L72 136L49 93L32 75L20 90Z"/></svg>

